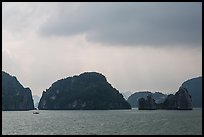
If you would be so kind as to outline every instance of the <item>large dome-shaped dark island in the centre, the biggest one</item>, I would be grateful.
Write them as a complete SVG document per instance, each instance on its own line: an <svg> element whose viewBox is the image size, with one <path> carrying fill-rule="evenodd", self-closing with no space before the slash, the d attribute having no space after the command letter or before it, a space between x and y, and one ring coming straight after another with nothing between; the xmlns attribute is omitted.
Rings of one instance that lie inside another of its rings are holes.
<svg viewBox="0 0 204 137"><path fill-rule="evenodd" d="M130 109L122 94L113 88L105 76L85 72L79 76L58 80L43 91L39 109Z"/></svg>

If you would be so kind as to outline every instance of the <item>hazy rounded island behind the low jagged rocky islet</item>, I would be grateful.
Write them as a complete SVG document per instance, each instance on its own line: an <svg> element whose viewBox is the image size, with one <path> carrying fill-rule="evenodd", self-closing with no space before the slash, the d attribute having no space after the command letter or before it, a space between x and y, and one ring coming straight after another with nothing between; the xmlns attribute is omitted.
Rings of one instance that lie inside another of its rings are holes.
<svg viewBox="0 0 204 137"><path fill-rule="evenodd" d="M153 97L153 99L156 100L155 101L156 103L163 102L165 100L165 98L167 97L166 94L163 94L160 92L152 93L150 91L140 91L140 92L135 92L134 94L129 96L129 98L127 99L127 102L131 105L131 107L137 108L138 107L138 100L140 98L147 99L148 95L151 95Z"/></svg>

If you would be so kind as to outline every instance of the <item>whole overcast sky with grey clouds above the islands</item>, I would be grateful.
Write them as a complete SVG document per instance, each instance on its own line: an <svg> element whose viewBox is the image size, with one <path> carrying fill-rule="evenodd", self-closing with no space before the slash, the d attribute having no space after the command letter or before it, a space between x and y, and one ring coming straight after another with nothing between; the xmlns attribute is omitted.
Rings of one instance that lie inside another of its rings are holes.
<svg viewBox="0 0 204 137"><path fill-rule="evenodd" d="M3 3L2 70L41 96L100 72L120 92L175 93L202 76L202 3Z"/></svg>

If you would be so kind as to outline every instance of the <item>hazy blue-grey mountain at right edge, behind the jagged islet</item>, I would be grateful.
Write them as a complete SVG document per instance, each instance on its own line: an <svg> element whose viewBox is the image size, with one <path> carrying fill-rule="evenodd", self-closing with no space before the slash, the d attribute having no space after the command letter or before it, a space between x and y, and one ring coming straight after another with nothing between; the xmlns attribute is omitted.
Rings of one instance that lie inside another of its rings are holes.
<svg viewBox="0 0 204 137"><path fill-rule="evenodd" d="M182 84L192 97L193 107L202 107L202 76L192 78Z"/></svg>

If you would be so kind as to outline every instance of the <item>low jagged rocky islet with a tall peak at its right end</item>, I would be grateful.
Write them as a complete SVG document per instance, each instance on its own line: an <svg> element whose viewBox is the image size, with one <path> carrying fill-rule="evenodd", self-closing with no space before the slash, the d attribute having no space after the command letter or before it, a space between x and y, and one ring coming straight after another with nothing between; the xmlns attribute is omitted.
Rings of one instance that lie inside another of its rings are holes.
<svg viewBox="0 0 204 137"><path fill-rule="evenodd" d="M153 100L151 97L148 97L147 100L140 98L138 109L192 110L192 99L188 93L188 90L185 87L180 87L175 95L168 95L163 103L155 103L155 100Z"/></svg>

